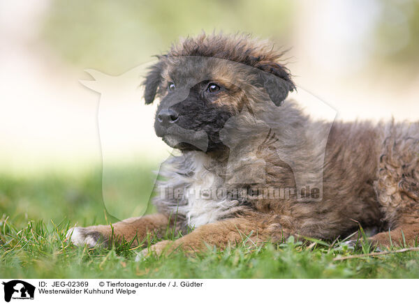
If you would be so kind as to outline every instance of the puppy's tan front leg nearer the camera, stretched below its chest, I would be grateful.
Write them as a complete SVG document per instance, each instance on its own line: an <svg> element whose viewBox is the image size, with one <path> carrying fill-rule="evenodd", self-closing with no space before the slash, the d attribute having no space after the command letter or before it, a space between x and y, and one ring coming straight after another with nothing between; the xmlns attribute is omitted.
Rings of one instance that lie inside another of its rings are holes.
<svg viewBox="0 0 419 304"><path fill-rule="evenodd" d="M149 251L158 255L162 252L168 254L177 249L199 252L207 248L205 244L221 249L244 242L258 244L270 238L269 231L269 227L263 222L232 218L200 226L176 241L161 241L149 249L142 250L140 254L144 256Z"/></svg>

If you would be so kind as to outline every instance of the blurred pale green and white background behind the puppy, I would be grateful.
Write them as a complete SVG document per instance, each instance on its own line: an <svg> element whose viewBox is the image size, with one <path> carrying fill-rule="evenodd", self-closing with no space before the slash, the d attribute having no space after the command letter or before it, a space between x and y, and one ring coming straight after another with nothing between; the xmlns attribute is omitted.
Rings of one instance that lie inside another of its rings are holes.
<svg viewBox="0 0 419 304"><path fill-rule="evenodd" d="M140 98L107 100L108 114L138 106L138 126L124 126L124 115L110 120L116 131L106 165L115 183L103 189L98 109L105 95L78 79L89 79L86 68L120 75L147 66L179 36L203 30L244 31L291 48L287 61L297 84L327 100L341 119L417 120L419 1L0 3L3 220L91 225L144 213L152 171L171 152L154 136L154 108ZM118 142L123 134L126 142ZM103 193L112 202L108 215Z"/></svg>

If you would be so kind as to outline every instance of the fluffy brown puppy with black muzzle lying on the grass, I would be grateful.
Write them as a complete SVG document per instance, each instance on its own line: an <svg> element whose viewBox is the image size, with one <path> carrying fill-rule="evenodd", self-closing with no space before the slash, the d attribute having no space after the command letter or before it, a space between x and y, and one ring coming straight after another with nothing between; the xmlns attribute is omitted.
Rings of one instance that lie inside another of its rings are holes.
<svg viewBox="0 0 419 304"><path fill-rule="evenodd" d="M167 227L203 250L244 239L334 239L378 227L371 240L416 245L419 123L312 121L286 100L295 86L281 52L249 36L200 35L159 56L145 102L161 99L156 134L181 151L161 167L159 213L112 225L137 244ZM194 228L189 234L189 227ZM108 241L110 225L68 231L76 245Z"/></svg>

